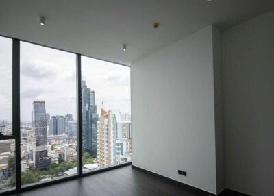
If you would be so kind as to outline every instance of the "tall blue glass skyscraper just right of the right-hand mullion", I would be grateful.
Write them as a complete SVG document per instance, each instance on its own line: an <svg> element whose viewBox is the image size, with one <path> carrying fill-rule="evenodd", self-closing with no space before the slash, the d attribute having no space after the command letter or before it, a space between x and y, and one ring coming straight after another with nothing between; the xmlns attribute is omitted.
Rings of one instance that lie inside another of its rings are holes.
<svg viewBox="0 0 274 196"><path fill-rule="evenodd" d="M95 92L90 91L86 81L82 81L82 134L83 151L97 156L97 106Z"/></svg>

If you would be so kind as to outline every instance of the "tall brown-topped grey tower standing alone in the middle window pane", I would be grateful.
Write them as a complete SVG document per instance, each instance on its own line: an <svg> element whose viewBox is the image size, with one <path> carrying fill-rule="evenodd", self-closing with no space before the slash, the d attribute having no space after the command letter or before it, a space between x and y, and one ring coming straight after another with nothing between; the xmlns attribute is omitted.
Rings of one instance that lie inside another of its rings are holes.
<svg viewBox="0 0 274 196"><path fill-rule="evenodd" d="M34 101L32 109L32 127L34 128L34 165L36 169L45 169L51 164L47 154L47 119L45 101Z"/></svg>

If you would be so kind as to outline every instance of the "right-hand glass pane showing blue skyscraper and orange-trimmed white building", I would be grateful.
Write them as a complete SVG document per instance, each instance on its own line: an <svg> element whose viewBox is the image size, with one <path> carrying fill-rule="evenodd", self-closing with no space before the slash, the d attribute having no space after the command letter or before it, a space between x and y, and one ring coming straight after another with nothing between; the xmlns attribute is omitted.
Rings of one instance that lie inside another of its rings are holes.
<svg viewBox="0 0 274 196"><path fill-rule="evenodd" d="M82 57L83 172L132 159L130 69Z"/></svg>

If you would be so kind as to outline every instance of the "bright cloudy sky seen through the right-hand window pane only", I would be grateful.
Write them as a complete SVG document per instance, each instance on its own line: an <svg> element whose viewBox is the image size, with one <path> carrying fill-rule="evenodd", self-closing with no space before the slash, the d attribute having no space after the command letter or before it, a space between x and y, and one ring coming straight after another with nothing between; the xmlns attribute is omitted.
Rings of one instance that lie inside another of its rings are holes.
<svg viewBox="0 0 274 196"><path fill-rule="evenodd" d="M101 101L108 109L130 113L130 69L110 62L82 58L82 78L95 90L95 103L101 113Z"/></svg>

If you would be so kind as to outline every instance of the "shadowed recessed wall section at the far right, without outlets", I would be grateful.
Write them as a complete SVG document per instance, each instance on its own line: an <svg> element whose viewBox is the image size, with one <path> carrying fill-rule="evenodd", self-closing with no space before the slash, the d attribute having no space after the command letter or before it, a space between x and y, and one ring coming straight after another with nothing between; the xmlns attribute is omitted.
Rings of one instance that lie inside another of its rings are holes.
<svg viewBox="0 0 274 196"><path fill-rule="evenodd" d="M274 195L274 12L222 33L225 184Z"/></svg>

